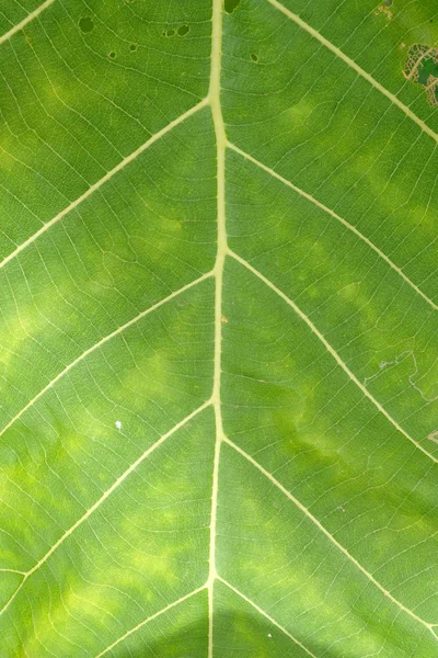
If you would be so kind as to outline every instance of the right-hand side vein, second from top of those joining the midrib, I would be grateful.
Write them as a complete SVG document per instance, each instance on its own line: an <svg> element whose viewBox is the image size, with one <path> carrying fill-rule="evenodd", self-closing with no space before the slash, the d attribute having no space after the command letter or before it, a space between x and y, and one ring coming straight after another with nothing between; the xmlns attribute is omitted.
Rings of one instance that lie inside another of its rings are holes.
<svg viewBox="0 0 438 658"><path fill-rule="evenodd" d="M229 254L232 258L234 258L239 263L241 263L241 265L243 265L244 268L246 268L246 270L249 270L255 276L257 276L257 279L260 279L261 281L263 281L263 283L265 285L267 285L272 291L274 291L279 297L281 297L281 299L284 299L284 302L286 302L286 304L288 304L295 310L295 313L308 325L308 327L312 330L312 332L320 339L320 341L323 343L323 345L325 347L325 349L327 350L327 352L330 352L330 354L335 359L335 361L338 363L338 365L341 365L341 367L348 375L348 377L351 379L351 382L354 382L356 384L356 386L358 388L360 388L360 390L362 392L362 394L368 399L371 400L371 402L394 426L394 428L396 430L399 430L399 432L401 432L418 450L420 450L425 455L427 455L433 462L435 462L435 463L438 464L438 458L435 457L429 452L427 452L427 450L425 450L423 447L423 445L420 443L418 443L418 441L416 441L415 439L413 439L413 436L411 436L397 423L397 421L394 418L392 418L392 416L390 416L388 413L388 411L384 409L384 407L382 407L382 405L374 398L374 396L371 395L371 393L367 389L367 387L364 386L364 384L361 384L361 382L359 382L359 379L356 377L356 375L349 370L349 367L347 366L347 364L341 359L341 356L336 352L336 350L334 348L332 348L332 345L330 344L330 342L324 338L324 336L321 333L321 331L313 325L312 320L297 306L297 304L295 304L295 302L292 302L283 291L280 291L276 285L274 285L274 283L272 283L268 279L266 279L266 276L264 276L261 272L258 272L258 270L256 270L255 268L253 268L253 265L251 265L243 258L241 258L240 256L238 256L234 251L230 250Z"/></svg>

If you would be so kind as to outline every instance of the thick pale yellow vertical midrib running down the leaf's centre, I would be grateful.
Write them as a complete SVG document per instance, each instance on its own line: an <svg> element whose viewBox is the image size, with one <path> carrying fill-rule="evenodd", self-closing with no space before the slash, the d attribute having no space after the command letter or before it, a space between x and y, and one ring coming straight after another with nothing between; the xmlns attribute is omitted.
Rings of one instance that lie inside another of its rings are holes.
<svg viewBox="0 0 438 658"><path fill-rule="evenodd" d="M219 488L219 458L223 438L222 415L220 405L220 374L221 374L221 345L222 345L222 282L223 265L227 254L226 230L226 148L227 137L220 105L220 70L222 44L222 0L212 3L212 33L211 33L211 72L209 88L209 103L211 106L217 158L217 256L215 263L215 371L211 401L216 418L216 445L212 468L211 515L210 515L210 547L209 547L209 575L208 575L208 658L212 658L212 620L214 620L214 583L216 571L216 523Z"/></svg>

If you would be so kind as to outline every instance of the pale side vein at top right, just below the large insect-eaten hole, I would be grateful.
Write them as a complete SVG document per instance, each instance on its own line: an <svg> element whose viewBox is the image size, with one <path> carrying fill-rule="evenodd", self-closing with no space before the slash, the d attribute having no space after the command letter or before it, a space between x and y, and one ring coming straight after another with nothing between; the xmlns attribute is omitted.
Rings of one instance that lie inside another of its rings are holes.
<svg viewBox="0 0 438 658"><path fill-rule="evenodd" d="M391 103L393 103L402 112L404 112L404 114L406 116L408 116L414 123L416 123L417 126L419 126L424 133L426 133L429 137L431 137L438 144L437 133L435 133L435 131L433 131L423 120L420 120L412 110L410 110L410 107L407 105L402 103L402 101L395 94L393 94L385 87L380 84L380 82L378 82L370 73L368 73L358 64L356 64L356 61L354 59L348 57L348 55L345 55L345 53L343 53L337 46L332 44L332 42L326 39L325 36L323 36L320 32L318 32L318 30L314 30L314 27L309 25L309 23L306 23L306 21L303 21L298 14L291 12L284 4L281 4L281 2L278 2L278 0L267 0L267 2L269 2L269 4L272 4L276 9L278 9L278 11L284 13L288 19L293 21L293 23L299 25L302 30L306 30L306 32L308 32L311 36L316 38L323 46L328 48L328 50L332 50L332 53L334 53L337 57L339 57L339 59L343 59L343 61L345 61L345 64L347 64L349 67L351 67L359 76L361 76L365 80L367 80L367 82L372 84L372 87L374 87L374 89L380 91L380 93L385 95L387 99L389 99L391 101Z"/></svg>

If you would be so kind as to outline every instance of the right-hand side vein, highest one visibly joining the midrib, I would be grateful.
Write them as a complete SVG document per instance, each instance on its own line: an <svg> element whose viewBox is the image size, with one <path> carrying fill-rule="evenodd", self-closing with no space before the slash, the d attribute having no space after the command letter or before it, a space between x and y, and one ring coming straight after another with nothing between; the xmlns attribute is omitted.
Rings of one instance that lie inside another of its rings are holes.
<svg viewBox="0 0 438 658"><path fill-rule="evenodd" d="M377 247L373 242L371 242L371 240L369 240L364 234L360 232L360 230L358 230L355 226L353 226L353 224L349 224L349 222L347 222L346 219L341 217L341 215L335 213L335 211L332 211L328 206L326 206L323 203L321 203L320 201L318 201L318 198L315 198L308 192L304 192L304 190L301 190L301 188L298 188L297 185L295 185L291 181L289 181L288 179L284 178L279 173L277 173L270 167L267 167L266 164L264 164L263 162L261 162L253 156L250 156L250 154L247 154L246 151L244 151L241 148L239 148L238 146L235 146L235 144L228 141L227 146L230 149L232 149L233 151L235 151L237 154L239 154L240 156L242 156L243 158L245 158L246 160L249 160L250 162L253 162L253 164L256 164L257 167L260 167L261 169L263 169L264 171L269 173L272 177L279 180L281 183L284 183L285 185L287 185L288 188L293 190L293 192L297 192L297 194L299 194L303 198L311 201L315 206L318 206L319 208L321 208L322 211L324 211L325 213L331 215L334 219L336 219L337 222L343 224L346 228L348 228L351 232L354 232L358 238L364 240L364 242L366 242L368 245L368 247L370 247L373 251L376 251L376 253L381 259L383 259L390 265L390 268L392 268L394 270L394 272L396 272L399 274L399 276L401 276L407 283L407 285L410 285L418 295L420 295L423 297L423 299L425 302L427 302L427 304L429 304L435 310L438 310L438 305L435 304L431 299L429 299L429 297L417 285L415 285L415 283L413 281L411 281L411 279L408 276L406 276L406 274L403 272L403 270L401 270L394 262L392 262L392 260L383 251L381 251L379 249L379 247Z"/></svg>

